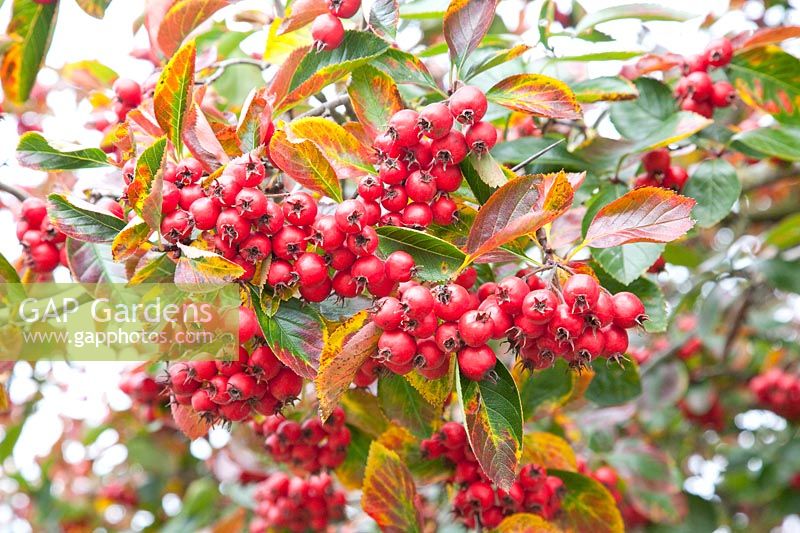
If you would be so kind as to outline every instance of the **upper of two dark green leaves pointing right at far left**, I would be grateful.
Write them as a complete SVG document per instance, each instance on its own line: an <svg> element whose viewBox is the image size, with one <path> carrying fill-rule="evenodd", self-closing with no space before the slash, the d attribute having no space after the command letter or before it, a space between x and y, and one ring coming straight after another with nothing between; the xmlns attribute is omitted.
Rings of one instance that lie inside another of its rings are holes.
<svg viewBox="0 0 800 533"><path fill-rule="evenodd" d="M40 133L34 131L29 131L19 138L17 160L20 165L36 170L76 170L111 166L108 156L99 148L63 152L54 148Z"/></svg>

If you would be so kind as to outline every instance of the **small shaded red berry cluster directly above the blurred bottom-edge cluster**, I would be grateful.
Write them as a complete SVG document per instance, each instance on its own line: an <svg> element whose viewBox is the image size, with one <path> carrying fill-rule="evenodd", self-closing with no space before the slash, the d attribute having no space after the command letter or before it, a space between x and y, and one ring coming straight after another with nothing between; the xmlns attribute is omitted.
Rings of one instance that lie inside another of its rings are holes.
<svg viewBox="0 0 800 533"><path fill-rule="evenodd" d="M344 411L337 407L325 423L316 416L300 423L272 415L253 425L256 434L266 436L264 444L273 460L314 474L344 462L350 445L344 418Z"/></svg>

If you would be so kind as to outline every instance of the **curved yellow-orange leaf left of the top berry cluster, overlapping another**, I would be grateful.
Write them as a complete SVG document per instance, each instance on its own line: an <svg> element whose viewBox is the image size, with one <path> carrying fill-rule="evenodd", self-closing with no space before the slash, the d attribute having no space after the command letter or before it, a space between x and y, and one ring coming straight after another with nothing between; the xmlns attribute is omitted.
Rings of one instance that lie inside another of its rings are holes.
<svg viewBox="0 0 800 533"><path fill-rule="evenodd" d="M352 133L332 120L306 117L286 125L286 134L292 142L311 141L333 167L339 179L355 180L375 169L369 164L367 148Z"/></svg>

